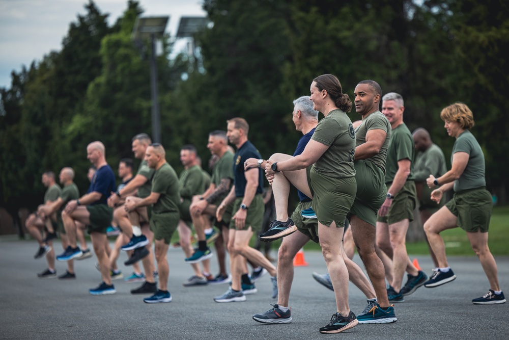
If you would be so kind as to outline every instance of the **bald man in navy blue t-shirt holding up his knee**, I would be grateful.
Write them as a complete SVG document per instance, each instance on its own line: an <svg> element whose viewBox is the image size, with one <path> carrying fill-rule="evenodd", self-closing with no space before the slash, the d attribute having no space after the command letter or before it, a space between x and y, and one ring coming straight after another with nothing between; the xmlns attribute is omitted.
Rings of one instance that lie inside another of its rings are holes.
<svg viewBox="0 0 509 340"><path fill-rule="evenodd" d="M76 222L87 225L103 279L99 286L90 289L89 292L92 295L115 294L117 291L111 284L109 260L106 254L108 243L106 228L113 219L113 209L108 206L106 199L112 191L116 191L115 173L106 163L106 152L101 142L95 141L87 146L87 158L97 171L87 193L79 199L69 201L62 212L69 245L56 259L68 261L81 256L82 252L76 244Z"/></svg>

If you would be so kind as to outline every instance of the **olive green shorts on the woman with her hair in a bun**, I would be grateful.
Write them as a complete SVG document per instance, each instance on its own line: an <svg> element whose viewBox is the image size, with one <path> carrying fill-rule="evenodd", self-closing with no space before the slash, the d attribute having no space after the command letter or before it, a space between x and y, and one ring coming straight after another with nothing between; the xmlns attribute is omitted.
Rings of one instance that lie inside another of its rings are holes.
<svg viewBox="0 0 509 340"><path fill-rule="evenodd" d="M343 228L357 192L355 177L333 178L307 168L307 184L313 195L313 210L325 226Z"/></svg>

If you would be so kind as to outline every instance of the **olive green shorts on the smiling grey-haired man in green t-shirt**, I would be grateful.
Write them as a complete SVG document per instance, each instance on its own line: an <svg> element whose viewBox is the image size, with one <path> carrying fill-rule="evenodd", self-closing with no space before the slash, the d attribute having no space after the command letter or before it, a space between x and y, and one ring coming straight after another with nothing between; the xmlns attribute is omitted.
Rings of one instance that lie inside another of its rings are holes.
<svg viewBox="0 0 509 340"><path fill-rule="evenodd" d="M387 187L389 185L387 184ZM377 221L387 224L393 224L408 219L413 221L413 211L417 202L417 192L415 182L407 180L400 192L392 199L389 212L384 217L378 216Z"/></svg>

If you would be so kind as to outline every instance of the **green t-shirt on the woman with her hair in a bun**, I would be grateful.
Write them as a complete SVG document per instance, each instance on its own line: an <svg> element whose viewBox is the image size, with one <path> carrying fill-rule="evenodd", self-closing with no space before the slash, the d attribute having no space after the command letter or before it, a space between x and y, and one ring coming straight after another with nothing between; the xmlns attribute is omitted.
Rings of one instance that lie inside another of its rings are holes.
<svg viewBox="0 0 509 340"><path fill-rule="evenodd" d="M329 147L313 165L315 171L332 178L355 176L355 131L346 113L339 109L329 112L311 138Z"/></svg>

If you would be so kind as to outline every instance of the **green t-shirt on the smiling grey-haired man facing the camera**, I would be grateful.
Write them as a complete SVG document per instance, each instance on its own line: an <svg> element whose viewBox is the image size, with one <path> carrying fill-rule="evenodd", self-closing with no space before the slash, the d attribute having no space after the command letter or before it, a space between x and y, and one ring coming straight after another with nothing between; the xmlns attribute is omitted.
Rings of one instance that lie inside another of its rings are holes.
<svg viewBox="0 0 509 340"><path fill-rule="evenodd" d="M390 135L389 147L387 148L387 163L385 165L385 183L394 180L396 172L398 172L398 161L410 160L410 174L407 180L414 180L413 160L415 154L415 143L405 123L402 123L392 129Z"/></svg>

